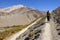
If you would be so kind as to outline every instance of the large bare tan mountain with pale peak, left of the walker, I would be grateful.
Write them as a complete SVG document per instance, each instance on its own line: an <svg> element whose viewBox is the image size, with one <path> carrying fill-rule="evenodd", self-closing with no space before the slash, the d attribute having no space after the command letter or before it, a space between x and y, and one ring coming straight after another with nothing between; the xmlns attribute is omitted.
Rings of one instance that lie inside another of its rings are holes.
<svg viewBox="0 0 60 40"><path fill-rule="evenodd" d="M36 18L44 16L44 13L45 12L24 5L0 8L0 27L26 25L34 21Z"/></svg>

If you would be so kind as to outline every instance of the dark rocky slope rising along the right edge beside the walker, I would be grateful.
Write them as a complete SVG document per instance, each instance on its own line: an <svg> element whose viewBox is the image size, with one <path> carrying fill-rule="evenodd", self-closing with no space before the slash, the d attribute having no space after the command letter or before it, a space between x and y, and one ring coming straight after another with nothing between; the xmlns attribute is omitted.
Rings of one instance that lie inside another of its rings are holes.
<svg viewBox="0 0 60 40"><path fill-rule="evenodd" d="M60 7L53 10L52 16L56 24L56 40L60 40Z"/></svg>

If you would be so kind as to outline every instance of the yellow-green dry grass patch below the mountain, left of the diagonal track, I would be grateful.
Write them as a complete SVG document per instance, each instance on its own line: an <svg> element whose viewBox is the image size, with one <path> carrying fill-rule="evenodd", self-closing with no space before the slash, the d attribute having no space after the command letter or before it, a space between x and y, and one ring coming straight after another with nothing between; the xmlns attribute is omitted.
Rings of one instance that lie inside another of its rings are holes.
<svg viewBox="0 0 60 40"><path fill-rule="evenodd" d="M10 27L6 27L5 28L6 30L4 32L0 32L0 40L3 40L4 38L6 38L6 37L18 32L20 30L22 30L25 27L26 27L26 25L24 25L24 26L23 25L12 26L11 28ZM9 29L9 30L7 30L7 29Z"/></svg>

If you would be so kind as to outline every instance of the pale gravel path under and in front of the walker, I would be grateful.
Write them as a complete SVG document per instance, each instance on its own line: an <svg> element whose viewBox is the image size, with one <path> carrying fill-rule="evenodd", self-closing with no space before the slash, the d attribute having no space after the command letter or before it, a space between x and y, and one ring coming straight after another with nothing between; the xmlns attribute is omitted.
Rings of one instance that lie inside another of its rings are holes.
<svg viewBox="0 0 60 40"><path fill-rule="evenodd" d="M47 19L46 19L47 22ZM49 22L45 24L42 40L52 40L51 25Z"/></svg>

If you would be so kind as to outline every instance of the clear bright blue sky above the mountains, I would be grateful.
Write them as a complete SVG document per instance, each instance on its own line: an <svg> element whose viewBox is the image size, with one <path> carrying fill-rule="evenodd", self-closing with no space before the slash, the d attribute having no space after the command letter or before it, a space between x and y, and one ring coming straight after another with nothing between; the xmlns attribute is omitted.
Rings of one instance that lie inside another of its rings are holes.
<svg viewBox="0 0 60 40"><path fill-rule="evenodd" d="M19 4L38 10L52 11L60 6L60 0L0 0L0 8Z"/></svg>

